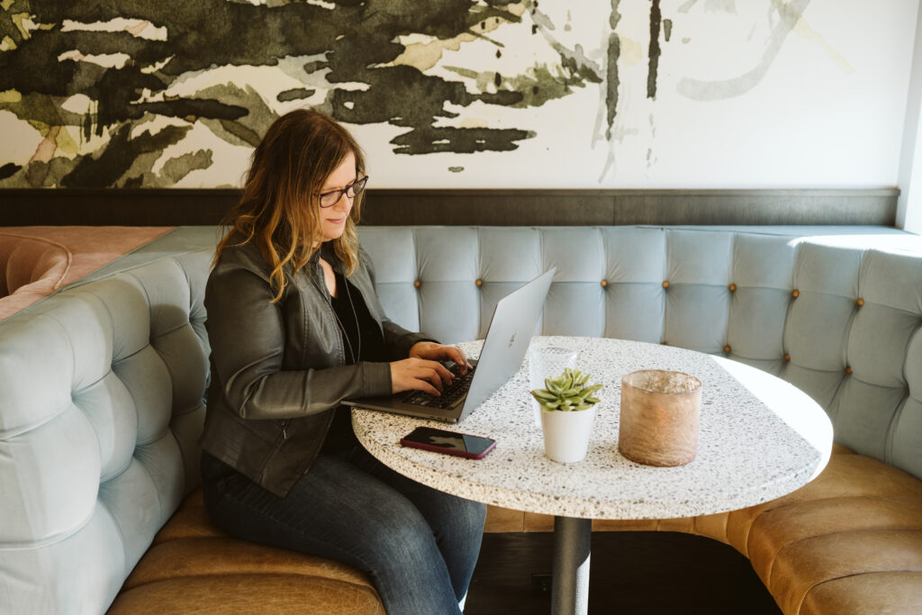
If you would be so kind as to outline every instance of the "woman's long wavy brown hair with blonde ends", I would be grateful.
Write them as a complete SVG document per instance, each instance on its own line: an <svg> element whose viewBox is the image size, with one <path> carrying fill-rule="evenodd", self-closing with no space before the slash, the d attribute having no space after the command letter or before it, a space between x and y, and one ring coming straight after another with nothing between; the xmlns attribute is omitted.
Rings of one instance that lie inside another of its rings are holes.
<svg viewBox="0 0 922 615"><path fill-rule="evenodd" d="M223 220L227 227L215 250L213 264L230 245L254 242L272 266L270 282L278 302L288 285L285 267L298 271L319 250L320 210L317 195L326 178L349 154L355 156L357 176L365 159L355 139L325 113L298 109L279 117L253 152L240 202ZM361 199L356 195L343 234L333 240L347 275L359 265L356 224ZM231 243L231 241L233 243Z"/></svg>

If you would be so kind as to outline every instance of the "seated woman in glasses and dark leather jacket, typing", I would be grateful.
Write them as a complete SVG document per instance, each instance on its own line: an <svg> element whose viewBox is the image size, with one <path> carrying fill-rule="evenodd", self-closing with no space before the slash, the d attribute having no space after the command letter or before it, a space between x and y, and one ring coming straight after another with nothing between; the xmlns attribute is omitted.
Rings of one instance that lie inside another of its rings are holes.
<svg viewBox="0 0 922 615"><path fill-rule="evenodd" d="M340 407L438 395L452 379L439 361L469 367L384 316L356 234L364 169L314 111L278 118L254 151L205 293L205 504L229 534L361 569L392 615L460 613L485 507L384 467Z"/></svg>

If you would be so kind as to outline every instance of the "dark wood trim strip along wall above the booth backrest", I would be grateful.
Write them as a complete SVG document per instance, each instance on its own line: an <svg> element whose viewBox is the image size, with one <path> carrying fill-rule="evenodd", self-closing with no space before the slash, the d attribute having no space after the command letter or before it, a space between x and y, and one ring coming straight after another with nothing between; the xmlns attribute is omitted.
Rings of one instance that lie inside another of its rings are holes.
<svg viewBox="0 0 922 615"><path fill-rule="evenodd" d="M899 190L369 190L372 225L869 224ZM0 226L217 224L235 189L6 189Z"/></svg>

